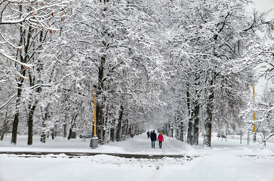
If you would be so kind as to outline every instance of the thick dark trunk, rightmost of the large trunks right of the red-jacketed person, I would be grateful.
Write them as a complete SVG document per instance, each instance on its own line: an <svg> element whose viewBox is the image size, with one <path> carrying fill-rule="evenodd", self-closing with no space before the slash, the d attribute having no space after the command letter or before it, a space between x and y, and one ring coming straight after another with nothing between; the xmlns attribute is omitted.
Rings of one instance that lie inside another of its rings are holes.
<svg viewBox="0 0 274 181"><path fill-rule="evenodd" d="M205 133L204 133L204 146L211 146L211 131L212 131L212 116L213 116L213 99L214 99L214 88L213 80L210 81L210 94L207 100L206 108L206 119L205 119Z"/></svg>

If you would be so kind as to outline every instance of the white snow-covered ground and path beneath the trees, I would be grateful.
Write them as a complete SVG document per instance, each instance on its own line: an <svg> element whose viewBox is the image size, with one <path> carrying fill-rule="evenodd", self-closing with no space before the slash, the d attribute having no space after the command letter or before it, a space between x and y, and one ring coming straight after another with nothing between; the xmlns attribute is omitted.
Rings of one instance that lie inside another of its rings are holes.
<svg viewBox="0 0 274 181"><path fill-rule="evenodd" d="M133 139L89 147L89 140L48 139L46 144L34 139L27 146L26 137L17 145L10 138L0 141L0 151L99 152L175 155L188 157L163 159L126 159L109 155L69 158L65 154L42 157L0 155L0 181L274 181L274 143L262 145L238 139L212 137L212 148L203 148L202 139L191 146L164 136L162 149L151 148L146 134ZM255 156L256 155L256 156Z"/></svg>

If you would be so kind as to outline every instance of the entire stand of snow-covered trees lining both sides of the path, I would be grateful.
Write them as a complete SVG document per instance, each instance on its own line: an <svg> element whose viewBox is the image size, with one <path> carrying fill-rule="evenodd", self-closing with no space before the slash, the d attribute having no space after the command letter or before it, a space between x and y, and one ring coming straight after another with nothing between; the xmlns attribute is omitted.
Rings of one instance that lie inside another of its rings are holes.
<svg viewBox="0 0 274 181"><path fill-rule="evenodd" d="M255 32L266 22L246 13L247 4L2 1L2 132L12 129L16 144L19 128L31 145L34 134L44 143L49 134L70 139L92 131L98 82L99 143L119 141L125 122L126 131L153 125L170 135L176 130L181 140L187 131L196 145L203 132L203 144L211 146L212 124L241 127L238 115L251 100L257 61L247 55L259 51Z"/></svg>

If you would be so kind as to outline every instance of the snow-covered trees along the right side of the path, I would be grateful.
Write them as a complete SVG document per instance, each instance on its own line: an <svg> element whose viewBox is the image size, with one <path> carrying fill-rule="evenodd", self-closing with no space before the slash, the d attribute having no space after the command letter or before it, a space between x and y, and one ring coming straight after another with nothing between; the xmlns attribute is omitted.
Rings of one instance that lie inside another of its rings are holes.
<svg viewBox="0 0 274 181"><path fill-rule="evenodd" d="M196 145L203 132L203 145L210 146L213 124L219 132L250 127L254 110L247 103L255 84L252 68L259 63L250 55L257 54L261 41L254 32L263 30L266 22L264 14L246 14L245 3L207 0L178 4L176 10L185 9L172 24L181 28L174 28L177 31L168 49L171 68L177 71L171 103L177 104L172 109L174 120L163 127L164 132L171 136L176 132L182 140L187 131L187 142ZM266 56L260 58L266 60ZM250 115L248 122L239 116L244 109Z"/></svg>

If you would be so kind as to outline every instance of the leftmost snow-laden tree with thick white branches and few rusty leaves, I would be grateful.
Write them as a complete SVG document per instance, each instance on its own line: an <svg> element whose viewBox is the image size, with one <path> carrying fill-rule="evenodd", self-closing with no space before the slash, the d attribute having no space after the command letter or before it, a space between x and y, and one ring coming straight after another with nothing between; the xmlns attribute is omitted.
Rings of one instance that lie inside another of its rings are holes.
<svg viewBox="0 0 274 181"><path fill-rule="evenodd" d="M21 104L21 95L25 90L24 80L30 80L30 91L38 90L39 86L33 80L31 69L39 72L41 63L38 57L40 48L45 43L45 34L54 34L58 29L53 28L53 19L64 20L64 8L69 5L69 1L2 1L0 16L0 56L9 62L15 73L17 84L17 100L15 115L13 121L12 144L16 144L17 129L19 123L19 111ZM44 32L44 33L43 33ZM36 66L36 67L35 67ZM28 76L28 77L27 77ZM39 90L38 90L39 91ZM32 102L33 101L33 102ZM32 103L31 103L32 102ZM31 98L29 102L30 119L32 123L32 114L37 104L36 98ZM32 128L31 128L32 129ZM32 135L32 131L30 130ZM31 145L32 140L29 140Z"/></svg>

